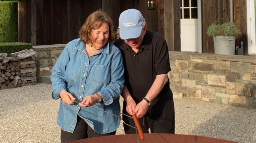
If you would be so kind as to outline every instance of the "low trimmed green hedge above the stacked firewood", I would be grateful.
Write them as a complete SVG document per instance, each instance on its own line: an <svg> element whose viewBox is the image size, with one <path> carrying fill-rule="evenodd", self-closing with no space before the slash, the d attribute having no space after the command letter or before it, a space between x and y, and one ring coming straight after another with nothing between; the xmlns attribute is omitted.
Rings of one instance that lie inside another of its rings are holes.
<svg viewBox="0 0 256 143"><path fill-rule="evenodd" d="M0 43L0 53L7 53L8 55L25 49L32 49L32 44L21 42Z"/></svg>

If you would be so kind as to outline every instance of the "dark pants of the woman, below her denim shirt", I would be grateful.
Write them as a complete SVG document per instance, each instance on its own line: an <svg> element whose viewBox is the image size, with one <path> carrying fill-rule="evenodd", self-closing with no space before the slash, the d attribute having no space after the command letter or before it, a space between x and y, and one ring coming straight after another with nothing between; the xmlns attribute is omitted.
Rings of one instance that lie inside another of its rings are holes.
<svg viewBox="0 0 256 143"><path fill-rule="evenodd" d="M74 133L66 132L61 130L60 139L61 142L70 142L74 140L90 138L90 137L98 137L105 135L115 135L116 131L107 134L100 134L95 132L83 119L77 116L77 123L75 126Z"/></svg>

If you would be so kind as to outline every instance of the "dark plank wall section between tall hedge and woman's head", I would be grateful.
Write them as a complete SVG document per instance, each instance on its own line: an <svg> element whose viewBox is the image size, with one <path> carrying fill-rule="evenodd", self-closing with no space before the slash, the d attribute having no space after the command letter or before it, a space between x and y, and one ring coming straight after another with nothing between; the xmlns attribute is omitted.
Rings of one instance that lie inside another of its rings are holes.
<svg viewBox="0 0 256 143"><path fill-rule="evenodd" d="M101 0L20 0L18 41L32 45L67 43L78 37L86 17L101 5Z"/></svg>

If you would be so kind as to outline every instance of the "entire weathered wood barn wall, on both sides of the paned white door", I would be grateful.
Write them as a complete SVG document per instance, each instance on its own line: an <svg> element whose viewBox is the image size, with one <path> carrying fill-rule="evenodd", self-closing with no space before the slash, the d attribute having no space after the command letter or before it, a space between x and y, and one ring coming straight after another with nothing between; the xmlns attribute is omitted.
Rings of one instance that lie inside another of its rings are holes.
<svg viewBox="0 0 256 143"><path fill-rule="evenodd" d="M156 9L146 9L144 0L19 0L18 41L32 45L62 44L78 38L87 16L103 9L113 19L115 29L122 11L136 8L143 14L149 30L165 37L169 51L181 51L180 1L156 0ZM215 21L229 19L229 0L201 0L202 52L214 53L213 38L206 35ZM239 28L236 46L244 42L247 55L246 1L234 0L234 22Z"/></svg>

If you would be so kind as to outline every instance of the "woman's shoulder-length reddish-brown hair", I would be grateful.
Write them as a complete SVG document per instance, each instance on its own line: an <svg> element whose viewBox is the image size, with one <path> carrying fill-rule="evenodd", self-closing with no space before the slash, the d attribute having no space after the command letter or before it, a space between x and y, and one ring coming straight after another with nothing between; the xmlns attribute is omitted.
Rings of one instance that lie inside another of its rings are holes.
<svg viewBox="0 0 256 143"><path fill-rule="evenodd" d="M92 45L91 31L100 28L102 23L107 23L109 25L109 38L108 41L112 43L115 39L114 25L112 19L107 15L107 13L101 9L91 13L85 23L82 25L79 31L79 36L82 42Z"/></svg>

